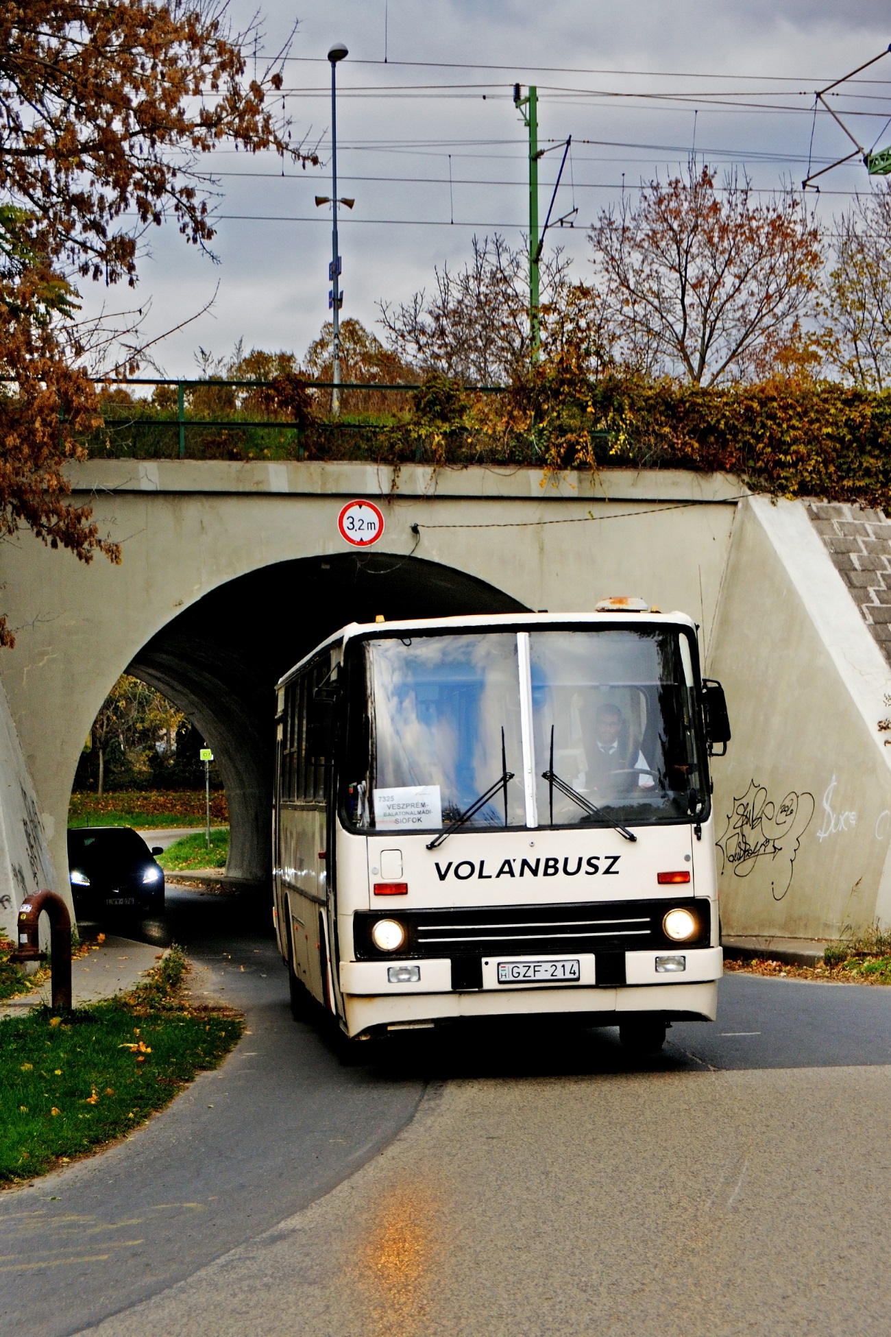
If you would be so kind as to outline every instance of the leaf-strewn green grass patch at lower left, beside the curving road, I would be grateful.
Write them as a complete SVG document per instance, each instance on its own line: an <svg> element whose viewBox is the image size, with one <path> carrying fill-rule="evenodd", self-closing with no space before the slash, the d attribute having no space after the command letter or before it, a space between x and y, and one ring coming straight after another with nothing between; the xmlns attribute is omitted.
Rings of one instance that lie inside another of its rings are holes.
<svg viewBox="0 0 891 1337"><path fill-rule="evenodd" d="M45 1174L163 1110L238 1043L243 1019L182 996L178 948L130 995L0 1021L0 1183Z"/></svg>

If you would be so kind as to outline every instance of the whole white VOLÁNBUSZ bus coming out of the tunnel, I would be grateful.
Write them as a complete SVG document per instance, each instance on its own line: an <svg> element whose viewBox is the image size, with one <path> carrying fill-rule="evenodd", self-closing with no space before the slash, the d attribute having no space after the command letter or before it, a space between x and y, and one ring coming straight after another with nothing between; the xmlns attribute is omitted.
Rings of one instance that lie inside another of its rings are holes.
<svg viewBox="0 0 891 1337"><path fill-rule="evenodd" d="M713 1020L728 739L695 623L643 600L343 627L278 683L295 1015L366 1039L577 1013L644 1050Z"/></svg>

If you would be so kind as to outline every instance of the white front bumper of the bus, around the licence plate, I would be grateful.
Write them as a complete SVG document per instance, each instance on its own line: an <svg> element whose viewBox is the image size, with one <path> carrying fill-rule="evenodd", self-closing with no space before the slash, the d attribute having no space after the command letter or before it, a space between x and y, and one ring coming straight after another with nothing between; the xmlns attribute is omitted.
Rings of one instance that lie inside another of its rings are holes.
<svg viewBox="0 0 891 1337"><path fill-rule="evenodd" d="M684 957L684 969L664 973L659 960ZM514 957L514 960L521 960ZM558 1013L659 1012L667 1017L713 1021L717 1009L717 980L723 973L720 947L676 952L627 952L625 984L598 987L596 964L580 960L578 983L498 984L497 961L484 961L482 988L454 991L452 961L422 960L421 977L414 983L390 983L386 961L342 961L341 993L347 1031L359 1035L370 1028L411 1025L453 1017L494 1017ZM609 1023L604 1023L609 1024Z"/></svg>

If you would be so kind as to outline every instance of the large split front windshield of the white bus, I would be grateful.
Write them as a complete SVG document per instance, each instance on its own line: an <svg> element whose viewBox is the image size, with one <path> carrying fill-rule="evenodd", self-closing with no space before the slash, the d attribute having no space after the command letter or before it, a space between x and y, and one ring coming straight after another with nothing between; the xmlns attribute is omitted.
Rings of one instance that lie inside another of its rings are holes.
<svg viewBox="0 0 891 1337"><path fill-rule="evenodd" d="M489 789L466 829L704 814L676 628L381 636L351 647L347 683L345 809L359 829L442 830Z"/></svg>

